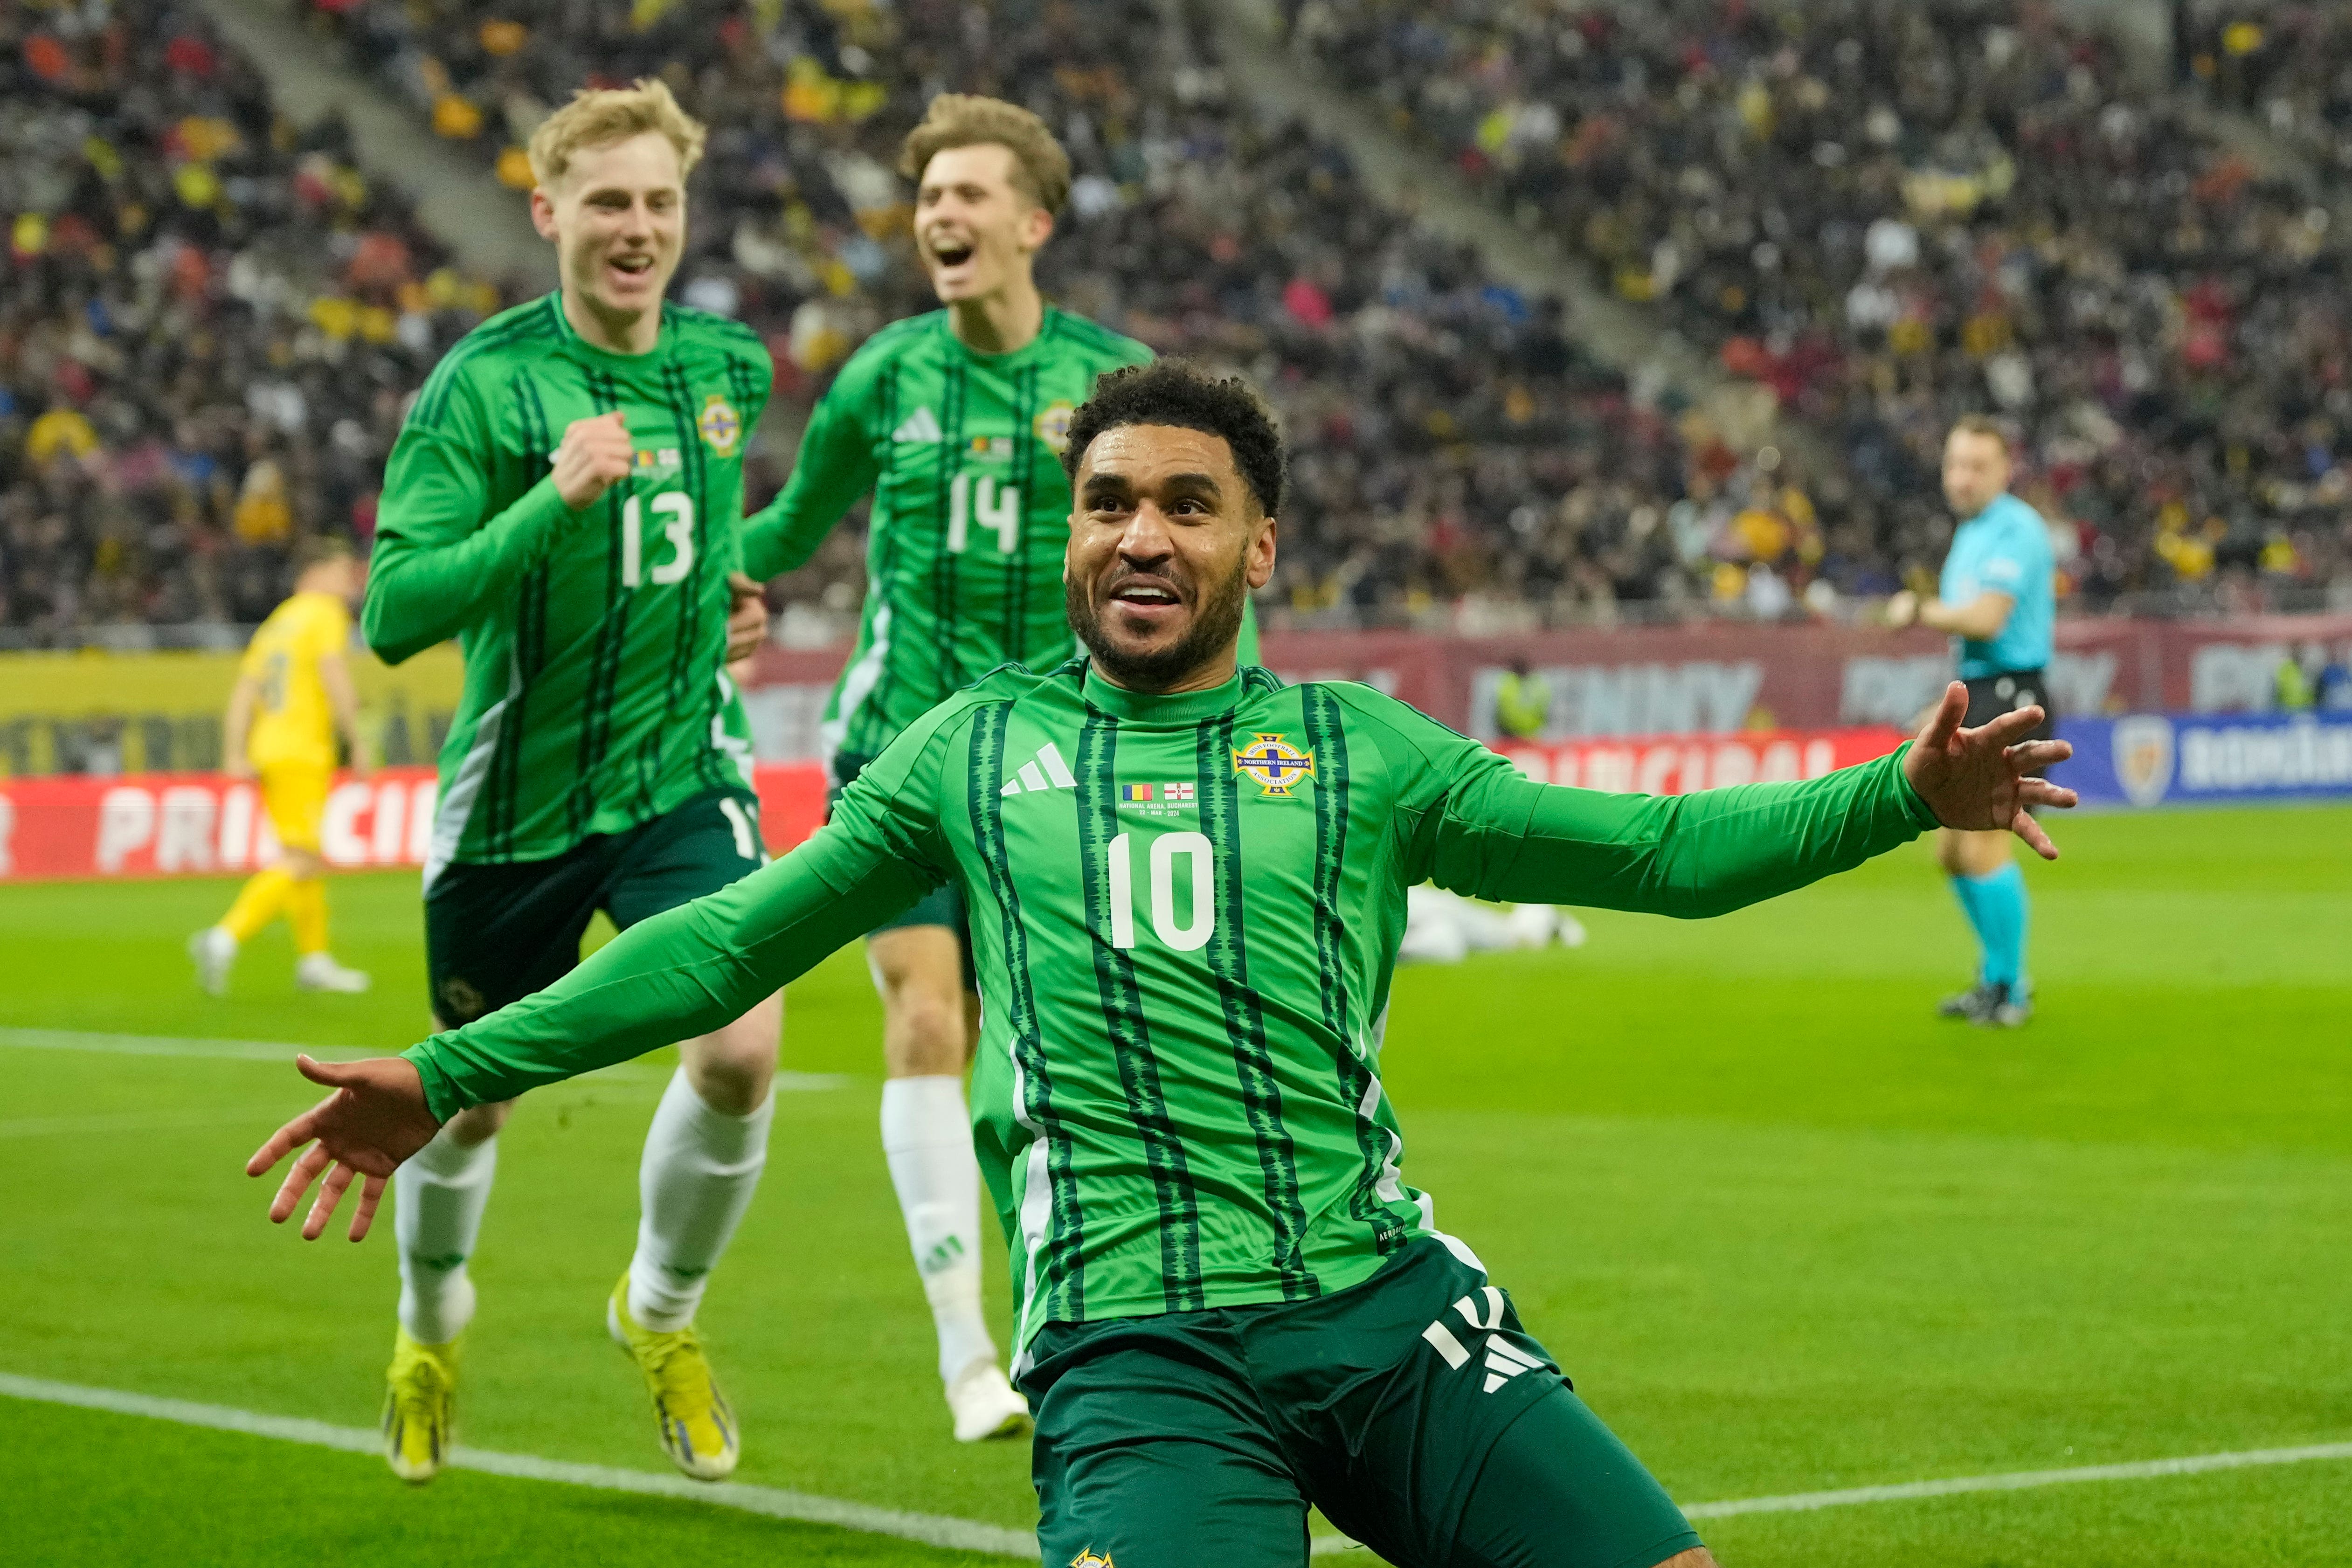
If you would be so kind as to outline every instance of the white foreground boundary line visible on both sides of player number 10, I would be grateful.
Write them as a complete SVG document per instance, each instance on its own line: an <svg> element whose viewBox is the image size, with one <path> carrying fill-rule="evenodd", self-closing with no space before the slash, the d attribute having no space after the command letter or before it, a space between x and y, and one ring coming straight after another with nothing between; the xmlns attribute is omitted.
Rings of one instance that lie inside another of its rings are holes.
<svg viewBox="0 0 2352 1568"><path fill-rule="evenodd" d="M78 1382L49 1382L47 1378L19 1378L14 1373L0 1373L0 1396L78 1406L82 1410L113 1410L115 1415L146 1415L151 1420L179 1422L183 1427L245 1432L249 1436L273 1436L287 1443L341 1448L346 1453L379 1453L381 1443L381 1436L369 1427L334 1427L322 1420L303 1420L296 1415L263 1415L259 1410L235 1410L230 1406L207 1406L186 1399L158 1399L153 1394L129 1394L122 1389L92 1389ZM1693 1502L1682 1512L1686 1519L1804 1514L1811 1509L1853 1507L1863 1502L1912 1502L1917 1497L1957 1497L1962 1493L2016 1493L2039 1486L2074 1486L2079 1481L2161 1481L2166 1476L2199 1476L2216 1469L2310 1465L2314 1460L2352 1460L2352 1443L2241 1448L2237 1453L2192 1453L2176 1460L2133 1460L2129 1465L2011 1469L1990 1476L1947 1476L1943 1481L1900 1481L1896 1486L1849 1486L1830 1493L1788 1493L1780 1497ZM487 1448L456 1448L449 1465L456 1469L480 1469L494 1476L515 1476L520 1481L553 1481L557 1486L593 1486L616 1493L637 1493L640 1497L708 1502L713 1507L764 1514L769 1519L830 1523L844 1530L863 1530L868 1535L891 1535L896 1540L913 1540L927 1547L960 1547L967 1552L995 1552L1021 1559L1035 1556L1037 1552L1035 1535L1028 1530L1007 1530L1004 1526L978 1523L974 1519L948 1519L943 1514L908 1514L903 1509L882 1509L868 1502L842 1502L837 1497L793 1493L776 1486L748 1486L741 1481L710 1486L644 1469L572 1465L567 1460L543 1460L532 1453L494 1453ZM1312 1544L1315 1556L1359 1549L1362 1547L1345 1535L1317 1535Z"/></svg>

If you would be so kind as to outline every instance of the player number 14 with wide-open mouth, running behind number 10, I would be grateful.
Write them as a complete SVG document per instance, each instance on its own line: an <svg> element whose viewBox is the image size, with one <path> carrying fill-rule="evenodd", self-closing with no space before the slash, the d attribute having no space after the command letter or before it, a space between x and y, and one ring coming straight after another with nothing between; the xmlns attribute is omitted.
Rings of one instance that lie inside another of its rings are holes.
<svg viewBox="0 0 2352 1568"><path fill-rule="evenodd" d="M1070 158L1037 115L941 94L898 167L915 181L915 249L941 310L851 355L746 541L753 576L790 571L873 494L866 609L823 722L835 795L957 686L1070 656L1070 409L1098 374L1150 360L1037 292L1037 249L1070 195ZM1256 663L1254 639L1244 658ZM882 1154L931 1302L948 1415L967 1443L1014 1436L1028 1403L981 1312L981 1175L964 1110L978 997L957 891L877 924L866 959L882 994Z"/></svg>

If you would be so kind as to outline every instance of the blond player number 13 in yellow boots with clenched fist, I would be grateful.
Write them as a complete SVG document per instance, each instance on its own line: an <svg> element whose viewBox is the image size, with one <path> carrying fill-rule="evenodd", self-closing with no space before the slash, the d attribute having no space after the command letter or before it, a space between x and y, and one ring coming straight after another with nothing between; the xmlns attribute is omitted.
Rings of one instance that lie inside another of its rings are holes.
<svg viewBox="0 0 2352 1568"><path fill-rule="evenodd" d="M560 287L475 327L409 409L383 482L362 625L397 663L456 637L466 696L440 757L426 961L442 1027L621 929L762 863L750 741L727 661L764 607L741 564L760 339L663 301L703 148L661 82L583 92L532 136L532 221ZM767 1159L774 987L680 1037L644 1140L637 1251L607 1324L689 1476L739 1429L694 1333ZM510 1100L473 1105L400 1173L400 1328L383 1446L405 1481L447 1453L466 1274Z"/></svg>

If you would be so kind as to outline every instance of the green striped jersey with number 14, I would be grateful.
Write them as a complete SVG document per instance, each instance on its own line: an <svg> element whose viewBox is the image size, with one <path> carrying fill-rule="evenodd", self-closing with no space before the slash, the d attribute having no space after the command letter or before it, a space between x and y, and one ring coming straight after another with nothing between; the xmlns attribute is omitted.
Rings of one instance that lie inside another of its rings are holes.
<svg viewBox="0 0 2352 1568"><path fill-rule="evenodd" d="M1070 414L1094 378L1152 350L1044 313L1004 355L964 348L946 310L884 327L809 416L793 477L746 524L771 578L873 491L866 607L821 729L826 757L875 757L957 686L997 665L1047 670L1075 649L1061 602Z"/></svg>

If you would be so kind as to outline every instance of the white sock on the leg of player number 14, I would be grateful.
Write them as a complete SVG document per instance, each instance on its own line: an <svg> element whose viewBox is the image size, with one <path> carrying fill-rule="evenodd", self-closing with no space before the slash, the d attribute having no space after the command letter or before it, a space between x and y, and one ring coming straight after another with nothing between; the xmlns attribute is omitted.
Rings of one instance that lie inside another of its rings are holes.
<svg viewBox="0 0 2352 1568"><path fill-rule="evenodd" d="M981 1166L971 1154L964 1079L884 1081L882 1157L938 1328L938 1375L953 1380L974 1361L997 1356L981 1314Z"/></svg>

